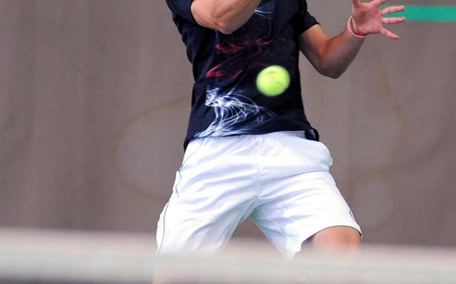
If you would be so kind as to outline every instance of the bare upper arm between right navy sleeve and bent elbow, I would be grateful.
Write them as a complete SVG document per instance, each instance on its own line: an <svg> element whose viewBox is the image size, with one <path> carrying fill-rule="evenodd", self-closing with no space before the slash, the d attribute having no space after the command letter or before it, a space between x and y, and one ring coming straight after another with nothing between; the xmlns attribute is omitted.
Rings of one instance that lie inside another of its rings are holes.
<svg viewBox="0 0 456 284"><path fill-rule="evenodd" d="M319 24L311 26L299 35L299 49L319 72L324 70L323 57L329 39L329 35Z"/></svg>

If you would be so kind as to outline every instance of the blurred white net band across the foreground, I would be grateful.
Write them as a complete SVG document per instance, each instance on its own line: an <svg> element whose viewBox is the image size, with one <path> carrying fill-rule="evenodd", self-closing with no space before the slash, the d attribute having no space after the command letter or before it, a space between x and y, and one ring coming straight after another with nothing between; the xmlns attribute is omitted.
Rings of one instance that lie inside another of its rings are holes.
<svg viewBox="0 0 456 284"><path fill-rule="evenodd" d="M0 228L0 283L456 283L456 250L365 246L285 259L270 244L155 254L148 234Z"/></svg>

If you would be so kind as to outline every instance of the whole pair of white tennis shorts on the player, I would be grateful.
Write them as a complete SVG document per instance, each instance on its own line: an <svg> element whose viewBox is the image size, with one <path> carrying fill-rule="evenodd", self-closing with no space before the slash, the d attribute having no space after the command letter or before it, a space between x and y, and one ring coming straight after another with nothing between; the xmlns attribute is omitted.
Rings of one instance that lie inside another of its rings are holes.
<svg viewBox="0 0 456 284"><path fill-rule="evenodd" d="M253 218L285 255L333 226L361 229L304 131L193 139L157 225L159 253L215 251Z"/></svg>

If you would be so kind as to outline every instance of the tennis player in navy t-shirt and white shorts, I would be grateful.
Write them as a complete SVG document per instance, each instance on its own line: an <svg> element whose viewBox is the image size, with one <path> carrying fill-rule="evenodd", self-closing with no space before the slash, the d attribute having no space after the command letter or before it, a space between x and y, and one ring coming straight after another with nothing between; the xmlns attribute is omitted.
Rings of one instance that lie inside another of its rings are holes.
<svg viewBox="0 0 456 284"><path fill-rule="evenodd" d="M193 64L185 154L157 228L160 253L216 251L253 218L292 257L303 243L360 245L361 229L329 173L327 147L306 118L299 51L325 76L339 77L368 34L398 36L384 17L404 6L352 1L347 28L329 37L306 0L166 0ZM281 65L291 85L278 96L256 87Z"/></svg>

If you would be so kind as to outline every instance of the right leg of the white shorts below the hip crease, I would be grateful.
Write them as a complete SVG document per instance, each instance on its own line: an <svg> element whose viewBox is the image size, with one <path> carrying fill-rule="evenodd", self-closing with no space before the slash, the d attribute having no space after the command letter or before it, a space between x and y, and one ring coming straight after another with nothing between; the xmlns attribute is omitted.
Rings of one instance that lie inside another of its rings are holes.
<svg viewBox="0 0 456 284"><path fill-rule="evenodd" d="M273 198L256 208L252 217L284 254L293 256L317 233L329 238L327 232L334 227L342 227L341 233L331 234L340 238L352 235L346 227L360 235L361 228L329 172L289 176L268 186L276 187L271 189Z"/></svg>

